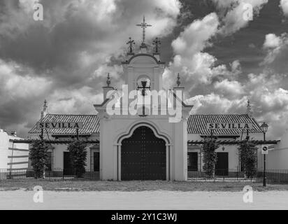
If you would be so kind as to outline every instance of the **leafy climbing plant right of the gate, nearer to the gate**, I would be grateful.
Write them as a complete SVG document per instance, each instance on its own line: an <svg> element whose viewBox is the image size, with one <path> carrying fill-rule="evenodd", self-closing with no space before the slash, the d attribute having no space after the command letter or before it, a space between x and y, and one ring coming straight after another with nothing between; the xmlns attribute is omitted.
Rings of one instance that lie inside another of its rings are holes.
<svg viewBox="0 0 288 224"><path fill-rule="evenodd" d="M209 177L215 174L215 164L217 162L216 149L219 147L213 139L205 140L202 148L203 152L203 170Z"/></svg>

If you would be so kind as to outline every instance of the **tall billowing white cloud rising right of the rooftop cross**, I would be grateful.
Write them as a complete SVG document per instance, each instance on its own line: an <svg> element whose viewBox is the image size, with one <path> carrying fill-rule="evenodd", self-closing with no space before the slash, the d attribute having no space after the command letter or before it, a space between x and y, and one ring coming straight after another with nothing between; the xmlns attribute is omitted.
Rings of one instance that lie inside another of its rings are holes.
<svg viewBox="0 0 288 224"><path fill-rule="evenodd" d="M210 83L216 58L203 50L211 45L210 38L217 32L219 21L215 13L206 15L202 20L194 20L178 38L172 42L175 57L164 74L164 83L174 80L180 72L184 83ZM168 79L168 80L167 80Z"/></svg>

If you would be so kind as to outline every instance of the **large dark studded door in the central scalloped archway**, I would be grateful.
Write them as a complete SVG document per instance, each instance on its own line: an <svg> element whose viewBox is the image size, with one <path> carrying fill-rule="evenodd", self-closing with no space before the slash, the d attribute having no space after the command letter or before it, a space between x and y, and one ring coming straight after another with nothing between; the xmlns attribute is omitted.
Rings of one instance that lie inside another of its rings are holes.
<svg viewBox="0 0 288 224"><path fill-rule="evenodd" d="M166 143L150 127L138 127L122 140L121 179L166 180Z"/></svg>

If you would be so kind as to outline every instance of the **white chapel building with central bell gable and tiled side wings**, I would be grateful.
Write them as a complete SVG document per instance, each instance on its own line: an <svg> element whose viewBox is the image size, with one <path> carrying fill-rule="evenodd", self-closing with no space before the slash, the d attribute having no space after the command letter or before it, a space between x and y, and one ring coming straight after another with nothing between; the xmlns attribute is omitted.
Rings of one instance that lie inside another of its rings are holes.
<svg viewBox="0 0 288 224"><path fill-rule="evenodd" d="M127 92L138 90L138 100L129 97L120 99L119 91L115 90L113 80L108 76L107 86L103 87L103 102L94 105L95 115L50 114L47 103L44 104L41 122L80 122L83 125L79 130L80 139L95 142L87 147L87 170L99 172L101 180L186 181L189 172L202 169L203 155L197 142L210 136L208 123L252 123L250 137L262 139L250 104L243 114L200 115L194 114L193 105L185 104L183 94L176 94L177 91L184 91L179 77L173 90L164 90L162 75L165 62L161 61L159 50L148 49L144 41L139 52L134 53L130 48L122 62ZM165 102L160 95L152 103L146 102L145 97L150 92L159 93L161 90L170 94ZM108 109L116 99L112 114ZM130 113L131 107L136 109L136 113ZM161 113L164 109L166 112L169 109L178 111L181 116L177 122L171 122L171 114ZM35 125L29 131L29 139L38 139L40 133L41 130ZM213 136L223 141L234 141L245 139L246 132L215 130ZM44 131L44 137L71 139L75 137L75 130L48 129ZM67 145L55 144L54 147L50 152L50 169L71 168ZM217 158L216 169L228 171L241 168L236 145L220 146Z"/></svg>

